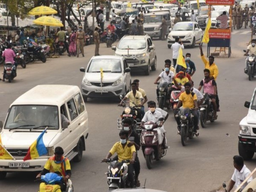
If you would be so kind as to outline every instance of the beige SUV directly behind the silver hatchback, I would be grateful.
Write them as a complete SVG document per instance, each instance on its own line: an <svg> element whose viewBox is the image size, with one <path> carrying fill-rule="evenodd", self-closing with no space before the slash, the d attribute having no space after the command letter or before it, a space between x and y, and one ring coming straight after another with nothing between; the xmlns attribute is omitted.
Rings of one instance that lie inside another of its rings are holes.
<svg viewBox="0 0 256 192"><path fill-rule="evenodd" d="M124 56L131 71L156 70L156 51L150 36L124 36L117 47L112 47L116 56Z"/></svg>

